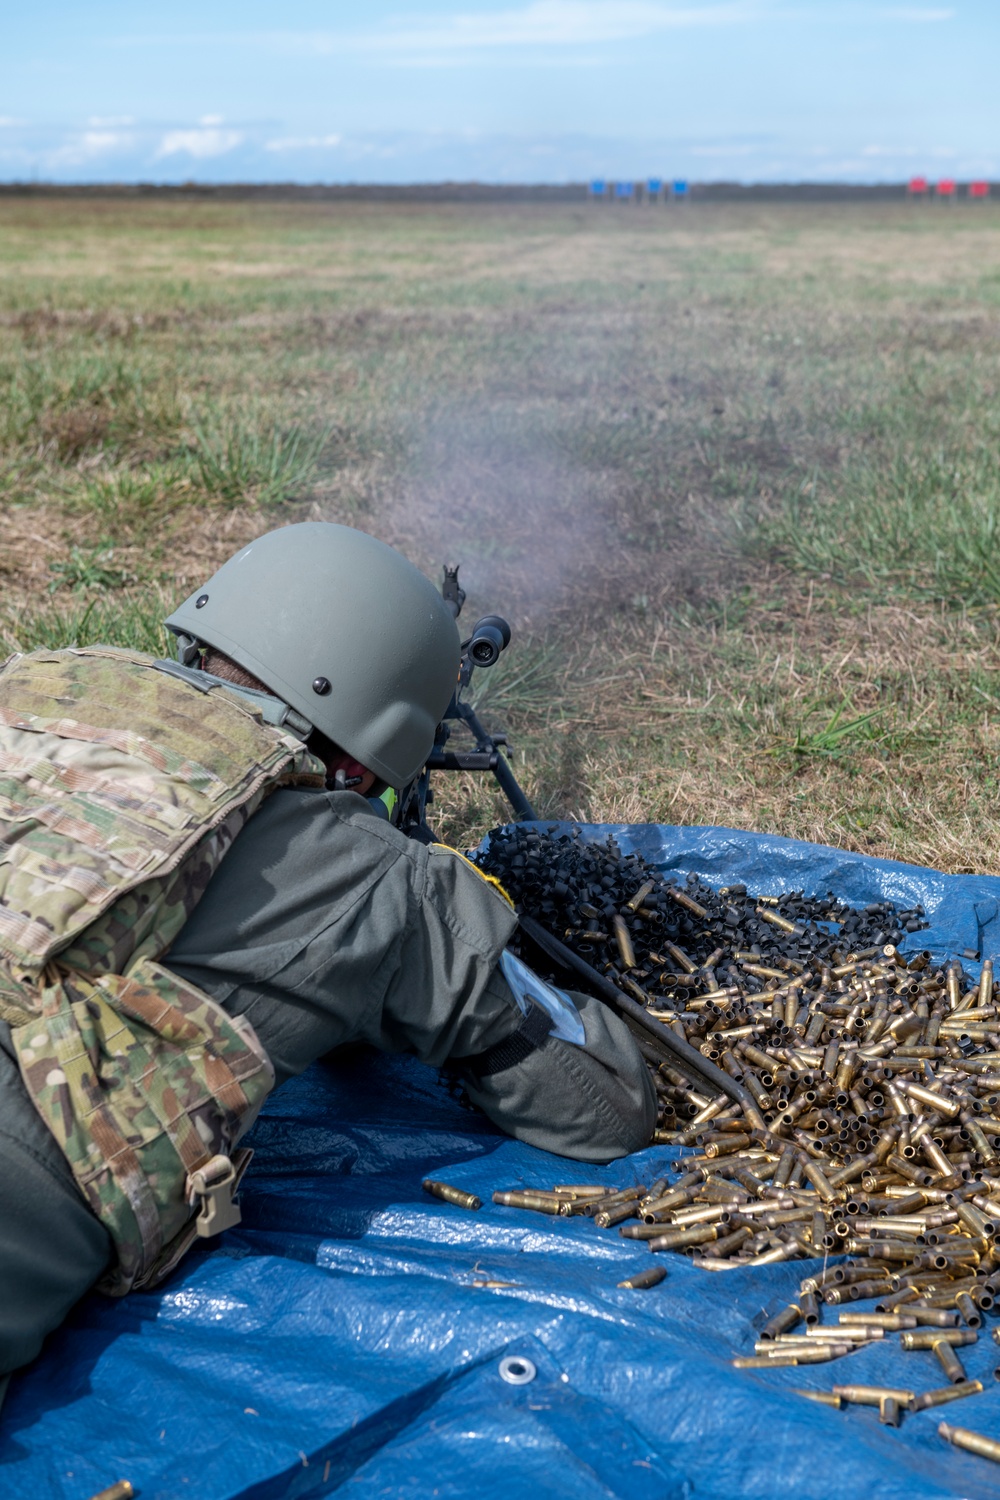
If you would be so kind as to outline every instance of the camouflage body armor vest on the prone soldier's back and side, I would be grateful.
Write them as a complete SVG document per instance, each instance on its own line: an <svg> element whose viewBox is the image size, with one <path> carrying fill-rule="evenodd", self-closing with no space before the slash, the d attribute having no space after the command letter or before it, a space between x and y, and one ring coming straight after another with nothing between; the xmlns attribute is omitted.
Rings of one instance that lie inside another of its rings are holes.
<svg viewBox="0 0 1000 1500"><path fill-rule="evenodd" d="M252 1028L157 958L264 796L324 784L253 694L192 678L103 646L0 669L0 1018L115 1296L238 1220L234 1148L273 1084Z"/></svg>

